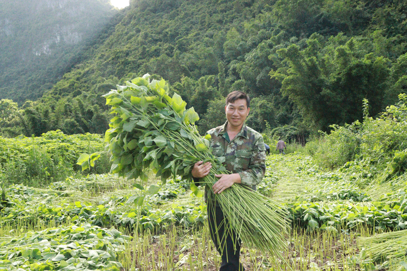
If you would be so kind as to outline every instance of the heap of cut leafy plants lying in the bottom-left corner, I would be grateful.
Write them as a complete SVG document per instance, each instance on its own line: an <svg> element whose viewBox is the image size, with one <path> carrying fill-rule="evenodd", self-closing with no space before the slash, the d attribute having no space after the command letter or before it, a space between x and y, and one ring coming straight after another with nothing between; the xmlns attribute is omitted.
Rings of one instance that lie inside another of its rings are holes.
<svg viewBox="0 0 407 271"><path fill-rule="evenodd" d="M4 239L4 238L3 238ZM119 254L130 237L83 224L27 232L0 245L2 270L120 270Z"/></svg>

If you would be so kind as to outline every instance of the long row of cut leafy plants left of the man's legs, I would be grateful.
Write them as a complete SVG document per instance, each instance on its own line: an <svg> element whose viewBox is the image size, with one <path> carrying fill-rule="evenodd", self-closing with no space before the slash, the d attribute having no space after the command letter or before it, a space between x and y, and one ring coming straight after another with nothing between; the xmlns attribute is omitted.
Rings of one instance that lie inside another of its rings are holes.
<svg viewBox="0 0 407 271"><path fill-rule="evenodd" d="M173 182L170 180L165 186L161 187L159 192L162 195L171 194L166 202L178 196L175 191L185 191L185 183ZM78 189L82 186L78 185ZM74 221L76 224L90 223L101 227L107 226L124 226L130 230L139 224L138 230L160 230L170 224L177 224L183 227L195 227L203 224L206 220L206 205L186 204L179 206L172 204L170 207L156 209L157 198L160 194L146 197L143 205L135 209L130 208L126 202L133 202L132 196L112 196L102 199L99 205L90 202L69 202L69 198L59 203L54 203L51 199L54 197L64 197L70 192L56 190L55 188L64 189L60 183L50 186L49 191L37 192L22 185L13 185L7 189L6 201L2 202L0 216L2 220L0 225L8 224L25 224L37 225L42 223L60 224ZM175 189L174 189L175 188ZM124 210L122 210L124 209ZM140 216L137 216L139 213ZM137 219L138 218L138 219Z"/></svg>

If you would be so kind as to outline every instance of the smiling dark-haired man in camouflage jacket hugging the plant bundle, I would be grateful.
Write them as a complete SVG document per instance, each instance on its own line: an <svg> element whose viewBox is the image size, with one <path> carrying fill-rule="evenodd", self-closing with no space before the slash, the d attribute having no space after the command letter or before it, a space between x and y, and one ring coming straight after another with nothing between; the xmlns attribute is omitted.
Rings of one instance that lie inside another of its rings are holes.
<svg viewBox="0 0 407 271"><path fill-rule="evenodd" d="M225 157L223 165L231 174L215 174L219 180L213 185L215 194L222 193L234 184L256 189L266 171L266 152L263 137L244 122L250 112L250 98L241 91L231 92L226 97L226 123L207 132L211 135L210 145L216 157ZM195 163L192 176L195 181L209 174L211 163ZM205 191L205 200L208 199ZM215 198L215 197L210 197ZM208 200L209 231L216 249L221 255L222 264L219 271L242 271L240 263L241 240L236 232L225 230L220 206ZM226 232L226 233L225 233Z"/></svg>

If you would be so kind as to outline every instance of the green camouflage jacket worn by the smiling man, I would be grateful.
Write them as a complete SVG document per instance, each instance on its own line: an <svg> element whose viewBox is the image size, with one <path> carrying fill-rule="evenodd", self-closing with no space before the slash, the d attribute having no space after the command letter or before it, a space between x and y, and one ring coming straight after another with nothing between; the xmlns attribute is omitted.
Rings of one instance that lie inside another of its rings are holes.
<svg viewBox="0 0 407 271"><path fill-rule="evenodd" d="M256 190L266 172L266 147L263 137L243 124L240 132L231 141L224 125L211 129L210 146L216 157L225 157L223 166L232 173L239 173L242 185ZM205 191L205 201L208 191Z"/></svg>

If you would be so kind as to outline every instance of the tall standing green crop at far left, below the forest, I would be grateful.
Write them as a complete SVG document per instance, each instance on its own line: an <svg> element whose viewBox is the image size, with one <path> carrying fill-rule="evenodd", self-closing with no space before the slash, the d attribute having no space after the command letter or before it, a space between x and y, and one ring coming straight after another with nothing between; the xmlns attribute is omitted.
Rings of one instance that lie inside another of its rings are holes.
<svg viewBox="0 0 407 271"><path fill-rule="evenodd" d="M74 174L78 154L102 150L103 140L99 135L50 131L40 137L0 137L0 145L0 164L9 183L43 187ZM107 160L103 156L93 171L106 172Z"/></svg>

